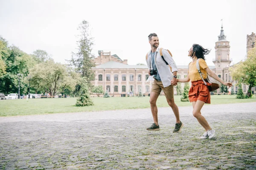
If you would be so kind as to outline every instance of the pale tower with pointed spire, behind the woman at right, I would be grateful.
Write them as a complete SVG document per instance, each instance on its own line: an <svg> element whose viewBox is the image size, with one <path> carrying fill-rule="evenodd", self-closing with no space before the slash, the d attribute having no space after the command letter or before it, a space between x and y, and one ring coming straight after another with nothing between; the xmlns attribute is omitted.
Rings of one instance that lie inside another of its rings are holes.
<svg viewBox="0 0 256 170"><path fill-rule="evenodd" d="M226 39L223 26L221 24L221 34L218 36L218 41L215 42L215 59L213 59L216 72L229 67L231 62L230 42Z"/></svg>

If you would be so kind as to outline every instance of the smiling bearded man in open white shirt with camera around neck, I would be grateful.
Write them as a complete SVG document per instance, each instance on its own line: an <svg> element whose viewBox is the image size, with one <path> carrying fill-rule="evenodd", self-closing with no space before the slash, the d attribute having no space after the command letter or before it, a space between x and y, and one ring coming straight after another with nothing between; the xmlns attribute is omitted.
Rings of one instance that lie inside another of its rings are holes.
<svg viewBox="0 0 256 170"><path fill-rule="evenodd" d="M159 39L157 34L149 34L148 41L151 45L151 50L148 51L146 62L149 68L148 74L150 75L148 80L154 80L149 99L154 123L147 130L160 130L156 102L159 94L163 90L166 100L176 117L173 132L179 132L183 124L180 122L179 109L174 102L173 96L173 85L177 85L177 66L172 59L172 54L166 49L158 47Z"/></svg>

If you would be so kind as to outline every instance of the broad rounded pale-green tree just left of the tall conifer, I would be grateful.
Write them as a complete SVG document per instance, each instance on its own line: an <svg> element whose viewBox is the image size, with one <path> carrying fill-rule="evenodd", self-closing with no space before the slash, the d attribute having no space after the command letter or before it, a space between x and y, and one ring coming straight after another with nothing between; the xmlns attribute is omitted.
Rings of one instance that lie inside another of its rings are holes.
<svg viewBox="0 0 256 170"><path fill-rule="evenodd" d="M30 86L38 91L46 91L55 96L63 93L65 89L73 91L80 80L79 74L72 68L61 63L55 63L52 59L37 64L30 70Z"/></svg>

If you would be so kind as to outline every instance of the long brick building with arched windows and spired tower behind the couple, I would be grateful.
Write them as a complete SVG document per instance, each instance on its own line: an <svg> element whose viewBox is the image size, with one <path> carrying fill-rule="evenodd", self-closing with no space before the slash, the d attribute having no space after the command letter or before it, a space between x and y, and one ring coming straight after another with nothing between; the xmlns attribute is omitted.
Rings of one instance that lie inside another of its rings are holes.
<svg viewBox="0 0 256 170"><path fill-rule="evenodd" d="M255 47L255 42L256 35L254 33L247 35L247 51ZM152 82L146 82L148 78L147 65L128 65L127 59L122 60L116 54L111 55L111 52L103 51L99 51L99 56L94 58L93 61L96 64L96 67L93 68L96 77L92 84L95 86L101 85L104 91L108 91L111 96L125 97L131 91L134 95L139 94L140 91L145 96L150 94ZM215 59L212 62L215 66L209 66L209 68L225 82L232 82L234 91L237 91L236 81L232 80L229 71L232 62L230 42L226 39L222 26L218 41L215 42ZM188 65L177 65L177 68L178 78L187 76ZM181 84L183 88L184 83ZM244 93L248 90L247 85L243 85L242 88ZM253 92L254 90L256 90L256 87L252 89ZM174 94L176 94L176 88L174 88ZM96 96L96 94L91 96Z"/></svg>

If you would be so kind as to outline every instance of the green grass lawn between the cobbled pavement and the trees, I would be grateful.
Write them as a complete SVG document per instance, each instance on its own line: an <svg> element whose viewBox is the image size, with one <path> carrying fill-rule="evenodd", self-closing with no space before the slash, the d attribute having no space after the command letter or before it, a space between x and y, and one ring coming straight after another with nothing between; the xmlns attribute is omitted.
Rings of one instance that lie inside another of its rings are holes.
<svg viewBox="0 0 256 170"><path fill-rule="evenodd" d="M76 107L77 98L60 99L16 99L0 101L0 116L17 116L46 113L72 113L88 111L106 111L121 109L150 108L149 97L111 97L92 98L93 106ZM236 95L213 95L211 102L215 104L256 102L256 97L252 99L236 99ZM175 96L175 103L179 106L191 106L190 102L180 102L180 96ZM168 107L165 96L157 99L158 107Z"/></svg>

